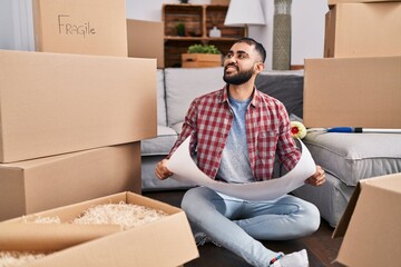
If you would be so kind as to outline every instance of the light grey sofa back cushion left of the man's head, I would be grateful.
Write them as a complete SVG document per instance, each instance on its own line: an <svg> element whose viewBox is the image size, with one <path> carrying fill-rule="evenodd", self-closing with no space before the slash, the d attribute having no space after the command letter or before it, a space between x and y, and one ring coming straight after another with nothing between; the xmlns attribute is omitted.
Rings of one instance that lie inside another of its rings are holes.
<svg viewBox="0 0 401 267"><path fill-rule="evenodd" d="M222 89L223 67L165 69L167 123L184 121L190 102L202 95Z"/></svg>

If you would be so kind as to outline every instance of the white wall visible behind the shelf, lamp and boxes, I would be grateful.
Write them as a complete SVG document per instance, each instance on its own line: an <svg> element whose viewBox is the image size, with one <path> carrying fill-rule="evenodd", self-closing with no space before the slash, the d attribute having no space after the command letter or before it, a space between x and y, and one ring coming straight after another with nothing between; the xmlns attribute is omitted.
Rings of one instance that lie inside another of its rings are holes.
<svg viewBox="0 0 401 267"><path fill-rule="evenodd" d="M246 0L244 0L246 1ZM178 0L126 0L129 19L162 21L163 3ZM189 0L208 4L211 0ZM272 69L274 0L261 0L266 26L251 26L250 37L267 51L266 69ZM31 0L0 1L0 49L35 50ZM322 58L326 0L293 0L291 65L303 65L304 58Z"/></svg>

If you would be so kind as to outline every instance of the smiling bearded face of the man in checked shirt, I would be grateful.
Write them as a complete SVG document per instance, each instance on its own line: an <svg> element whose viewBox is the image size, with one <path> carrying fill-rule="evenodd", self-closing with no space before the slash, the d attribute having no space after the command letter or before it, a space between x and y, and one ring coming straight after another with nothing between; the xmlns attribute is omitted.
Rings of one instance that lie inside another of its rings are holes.
<svg viewBox="0 0 401 267"><path fill-rule="evenodd" d="M257 60L254 47L245 42L234 43L224 61L223 80L229 85L247 82L255 73Z"/></svg>

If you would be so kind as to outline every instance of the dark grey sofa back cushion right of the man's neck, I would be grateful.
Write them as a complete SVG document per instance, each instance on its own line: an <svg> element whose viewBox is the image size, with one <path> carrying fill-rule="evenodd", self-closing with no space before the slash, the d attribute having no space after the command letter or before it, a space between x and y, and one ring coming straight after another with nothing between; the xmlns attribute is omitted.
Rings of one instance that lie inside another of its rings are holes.
<svg viewBox="0 0 401 267"><path fill-rule="evenodd" d="M256 88L282 101L288 112L303 116L303 72L263 71L255 80Z"/></svg>

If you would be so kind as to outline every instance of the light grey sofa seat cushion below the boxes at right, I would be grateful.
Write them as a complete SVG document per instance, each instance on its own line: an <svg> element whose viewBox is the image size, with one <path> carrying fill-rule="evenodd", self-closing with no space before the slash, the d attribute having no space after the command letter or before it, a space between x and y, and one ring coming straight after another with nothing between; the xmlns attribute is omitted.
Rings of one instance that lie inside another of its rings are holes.
<svg viewBox="0 0 401 267"><path fill-rule="evenodd" d="M401 135L310 132L303 140L315 162L348 186L401 172Z"/></svg>

